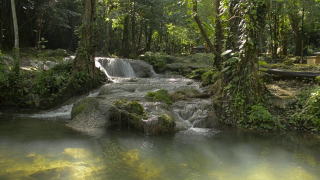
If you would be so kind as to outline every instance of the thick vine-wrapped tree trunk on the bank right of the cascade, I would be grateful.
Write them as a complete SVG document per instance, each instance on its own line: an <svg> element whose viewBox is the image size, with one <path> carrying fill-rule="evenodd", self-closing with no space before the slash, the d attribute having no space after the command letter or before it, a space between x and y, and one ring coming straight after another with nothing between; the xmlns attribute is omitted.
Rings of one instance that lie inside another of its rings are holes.
<svg viewBox="0 0 320 180"><path fill-rule="evenodd" d="M243 17L239 56L226 61L219 79L210 88L210 94L223 103L214 103L213 108L225 116L226 124L237 125L239 120L246 123L245 114L250 110L247 105L256 105L263 95L264 89L258 77L258 53L269 1L249 0L245 5L239 4L239 16ZM248 11L255 13L247 15Z"/></svg>

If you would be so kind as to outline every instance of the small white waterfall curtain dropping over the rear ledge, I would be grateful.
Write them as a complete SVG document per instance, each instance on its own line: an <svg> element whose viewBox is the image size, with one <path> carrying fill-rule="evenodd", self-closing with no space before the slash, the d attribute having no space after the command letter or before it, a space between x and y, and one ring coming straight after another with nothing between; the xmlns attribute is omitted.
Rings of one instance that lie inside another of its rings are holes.
<svg viewBox="0 0 320 180"><path fill-rule="evenodd" d="M123 59L99 58L108 77L136 77L131 65Z"/></svg>

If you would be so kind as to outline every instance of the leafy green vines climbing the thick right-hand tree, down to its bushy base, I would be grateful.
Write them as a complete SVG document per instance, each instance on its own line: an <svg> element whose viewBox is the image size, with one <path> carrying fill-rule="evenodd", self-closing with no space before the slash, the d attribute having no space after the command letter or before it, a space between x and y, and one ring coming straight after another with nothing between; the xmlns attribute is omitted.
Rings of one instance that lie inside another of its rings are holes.
<svg viewBox="0 0 320 180"><path fill-rule="evenodd" d="M239 0L236 4L240 20L239 52L230 53L222 63L224 123L244 128L274 129L275 118L264 105L263 81L258 74L258 51L265 24L268 0Z"/></svg>

